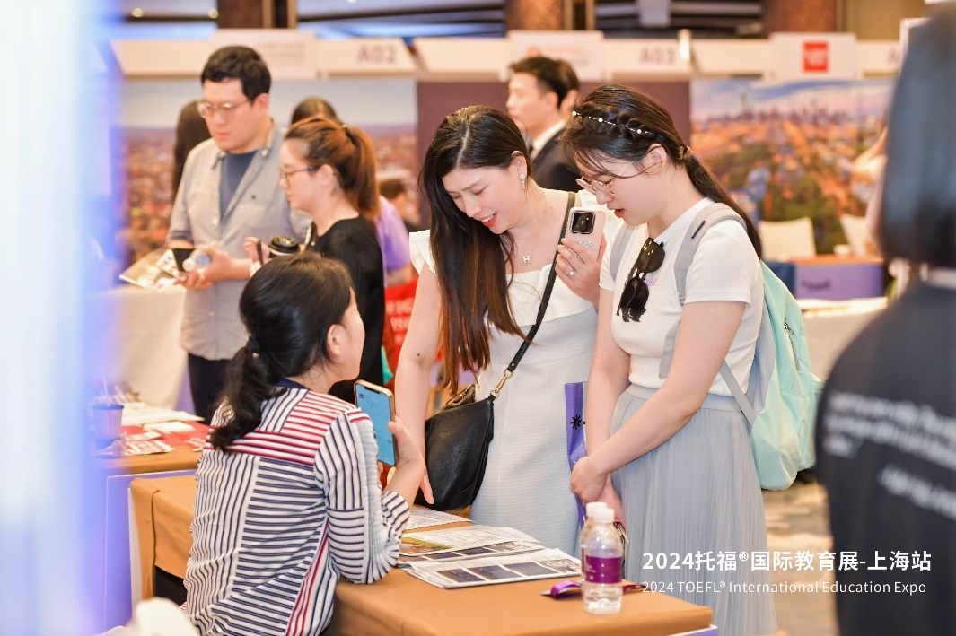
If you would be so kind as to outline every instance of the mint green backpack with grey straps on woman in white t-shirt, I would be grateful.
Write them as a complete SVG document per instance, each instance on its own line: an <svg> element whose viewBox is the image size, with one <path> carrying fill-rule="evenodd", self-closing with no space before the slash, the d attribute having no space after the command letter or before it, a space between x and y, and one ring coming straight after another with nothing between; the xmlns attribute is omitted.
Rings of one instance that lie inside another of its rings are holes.
<svg viewBox="0 0 956 636"><path fill-rule="evenodd" d="M674 265L682 306L687 270L701 239L709 228L728 220L747 227L744 220L723 203L706 206L691 223ZM610 262L615 275L632 229L625 226L615 239ZM797 471L815 463L814 422L823 382L810 371L810 351L800 307L790 289L767 265L760 265L764 279L764 313L747 393L741 390L726 360L720 374L750 424L750 449L760 487L784 490L793 483ZM664 341L662 378L670 371L679 327L680 321Z"/></svg>

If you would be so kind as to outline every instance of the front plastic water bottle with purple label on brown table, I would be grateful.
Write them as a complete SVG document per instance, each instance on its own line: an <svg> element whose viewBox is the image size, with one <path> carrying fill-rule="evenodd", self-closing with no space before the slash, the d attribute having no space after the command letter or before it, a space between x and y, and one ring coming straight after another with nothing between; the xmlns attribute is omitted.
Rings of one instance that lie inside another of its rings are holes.
<svg viewBox="0 0 956 636"><path fill-rule="evenodd" d="M617 614L620 611L620 569L624 548L614 527L614 511L595 511L595 525L584 543L584 611Z"/></svg>

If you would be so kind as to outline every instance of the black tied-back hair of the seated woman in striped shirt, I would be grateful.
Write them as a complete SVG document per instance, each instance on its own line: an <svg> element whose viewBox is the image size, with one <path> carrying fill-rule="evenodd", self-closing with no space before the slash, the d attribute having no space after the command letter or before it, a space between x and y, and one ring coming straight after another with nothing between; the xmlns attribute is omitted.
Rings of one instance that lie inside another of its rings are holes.
<svg viewBox="0 0 956 636"><path fill-rule="evenodd" d="M279 380L327 363L329 329L341 323L351 290L345 265L308 251L272 259L252 276L239 299L249 342L229 362L214 447L226 450L259 426L262 403L283 391Z"/></svg>

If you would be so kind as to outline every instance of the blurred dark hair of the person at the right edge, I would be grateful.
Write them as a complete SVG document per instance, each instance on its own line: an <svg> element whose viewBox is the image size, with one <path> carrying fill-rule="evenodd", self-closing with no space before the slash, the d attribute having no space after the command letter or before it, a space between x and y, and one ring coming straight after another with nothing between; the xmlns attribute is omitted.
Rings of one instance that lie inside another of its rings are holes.
<svg viewBox="0 0 956 636"><path fill-rule="evenodd" d="M877 234L888 258L956 268L956 6L930 15L893 95Z"/></svg>

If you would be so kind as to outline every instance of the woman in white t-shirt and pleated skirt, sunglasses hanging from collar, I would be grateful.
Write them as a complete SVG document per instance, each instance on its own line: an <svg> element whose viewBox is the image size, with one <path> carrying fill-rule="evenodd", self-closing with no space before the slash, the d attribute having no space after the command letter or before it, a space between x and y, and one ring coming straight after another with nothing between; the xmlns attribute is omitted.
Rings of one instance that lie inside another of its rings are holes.
<svg viewBox="0 0 956 636"><path fill-rule="evenodd" d="M771 633L773 598L760 587L768 572L744 562L767 551L748 424L718 375L726 359L746 391L764 302L756 229L648 95L598 88L576 106L564 139L597 202L637 226L617 275L611 247L601 265L589 455L572 487L618 510L630 539L628 579L709 605L722 634ZM682 307L674 261L691 222L714 201L741 214L747 229L718 223L706 233ZM665 337L678 321L662 372ZM750 583L757 587L738 586Z"/></svg>

